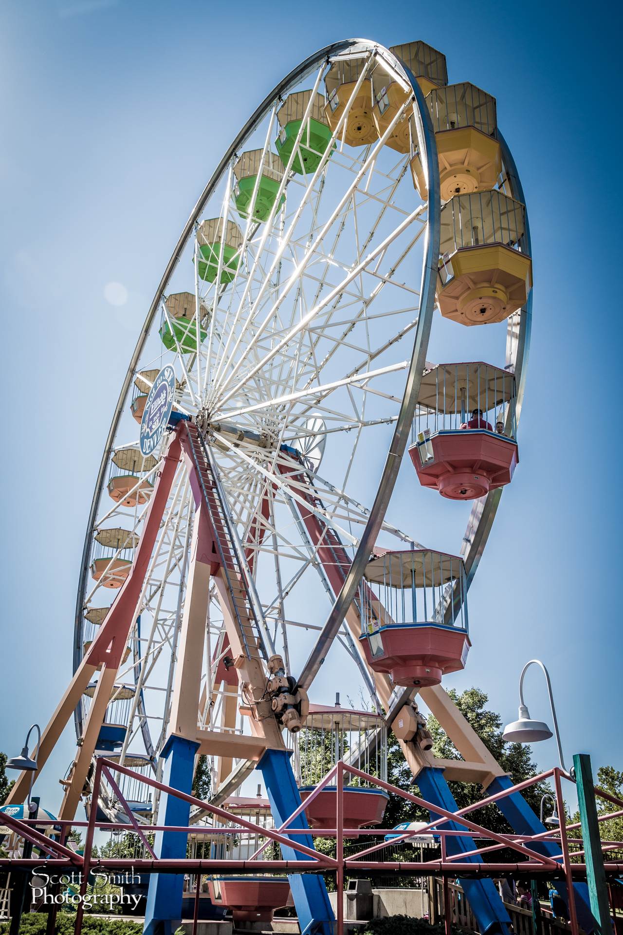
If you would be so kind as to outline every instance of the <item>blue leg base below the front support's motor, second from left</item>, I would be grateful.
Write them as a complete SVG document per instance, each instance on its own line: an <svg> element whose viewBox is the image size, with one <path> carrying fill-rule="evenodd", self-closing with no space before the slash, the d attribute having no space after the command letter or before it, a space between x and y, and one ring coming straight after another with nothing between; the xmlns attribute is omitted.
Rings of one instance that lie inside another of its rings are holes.
<svg viewBox="0 0 623 935"><path fill-rule="evenodd" d="M287 750L267 750L257 769L262 773L275 825L279 827L301 804L301 796L290 766L290 754ZM304 813L295 818L290 827L308 828ZM293 835L292 840L300 841L305 847L314 846L311 834ZM291 847L282 846L281 854L284 860L308 859ZM333 935L333 910L322 877L304 873L291 874L288 879L301 931Z"/></svg>

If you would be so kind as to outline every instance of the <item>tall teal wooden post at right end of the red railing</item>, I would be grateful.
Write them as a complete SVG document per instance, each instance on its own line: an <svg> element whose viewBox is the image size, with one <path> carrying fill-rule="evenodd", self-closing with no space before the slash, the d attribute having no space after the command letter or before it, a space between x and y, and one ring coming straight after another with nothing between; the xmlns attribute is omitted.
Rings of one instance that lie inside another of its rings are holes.
<svg viewBox="0 0 623 935"><path fill-rule="evenodd" d="M595 802L593 788L593 773L590 769L590 756L588 754L575 754L573 756L573 767L577 784L577 804L582 824L584 859L587 864L590 911L595 919L594 931L595 935L610 935L612 924L610 922L608 887L605 882L605 871L603 870L602 840L597 821L597 803Z"/></svg>

